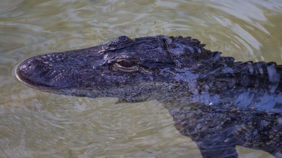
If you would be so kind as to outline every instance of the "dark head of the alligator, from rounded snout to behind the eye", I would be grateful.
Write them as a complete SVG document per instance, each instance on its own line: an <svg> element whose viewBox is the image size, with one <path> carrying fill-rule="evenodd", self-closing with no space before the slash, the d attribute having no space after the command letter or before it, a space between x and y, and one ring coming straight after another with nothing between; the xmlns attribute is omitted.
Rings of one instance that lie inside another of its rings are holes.
<svg viewBox="0 0 282 158"><path fill-rule="evenodd" d="M16 74L26 85L51 93L151 100L179 86L182 76L175 76L183 72L176 72L191 68L203 46L190 37L121 36L96 47L31 57Z"/></svg>

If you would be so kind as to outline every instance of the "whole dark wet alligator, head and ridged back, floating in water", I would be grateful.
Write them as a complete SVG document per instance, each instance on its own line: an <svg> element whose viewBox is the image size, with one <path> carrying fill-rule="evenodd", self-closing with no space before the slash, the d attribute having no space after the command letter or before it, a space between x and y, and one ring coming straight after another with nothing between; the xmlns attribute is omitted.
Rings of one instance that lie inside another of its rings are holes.
<svg viewBox="0 0 282 158"><path fill-rule="evenodd" d="M203 157L238 157L235 145L282 157L282 66L240 62L191 37L118 37L37 55L16 68L29 87L123 102L158 100Z"/></svg>

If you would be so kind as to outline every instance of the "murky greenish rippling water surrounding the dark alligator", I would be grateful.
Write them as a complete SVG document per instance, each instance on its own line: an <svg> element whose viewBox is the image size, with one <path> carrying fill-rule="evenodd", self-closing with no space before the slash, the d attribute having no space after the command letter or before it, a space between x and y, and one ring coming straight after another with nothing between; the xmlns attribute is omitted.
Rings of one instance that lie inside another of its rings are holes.
<svg viewBox="0 0 282 158"><path fill-rule="evenodd" d="M157 101L115 104L21 84L37 54L118 36L191 36L242 61L282 64L281 1L0 0L0 157L200 157ZM237 147L240 157L271 157Z"/></svg>

